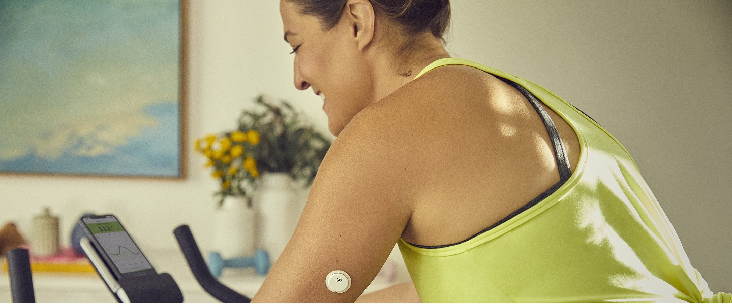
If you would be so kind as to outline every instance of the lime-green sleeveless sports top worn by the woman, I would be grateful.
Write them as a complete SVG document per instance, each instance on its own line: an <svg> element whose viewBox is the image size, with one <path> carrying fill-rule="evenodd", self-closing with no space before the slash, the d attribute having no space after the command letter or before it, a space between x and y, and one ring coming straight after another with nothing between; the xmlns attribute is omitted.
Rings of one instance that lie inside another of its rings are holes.
<svg viewBox="0 0 732 304"><path fill-rule="evenodd" d="M635 161L610 133L545 88L471 61L440 59L417 77L449 64L482 69L529 99L550 134L560 181L460 243L399 240L423 302L731 302L732 295L709 291ZM574 172L539 102L577 134Z"/></svg>

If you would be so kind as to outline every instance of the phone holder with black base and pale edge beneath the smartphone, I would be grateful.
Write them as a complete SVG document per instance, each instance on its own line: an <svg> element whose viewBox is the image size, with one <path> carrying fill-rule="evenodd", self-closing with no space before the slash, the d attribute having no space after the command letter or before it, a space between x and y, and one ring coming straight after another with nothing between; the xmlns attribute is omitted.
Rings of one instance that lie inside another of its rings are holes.
<svg viewBox="0 0 732 304"><path fill-rule="evenodd" d="M86 257L119 303L183 303L183 293L168 273L117 280L88 238L79 241Z"/></svg>

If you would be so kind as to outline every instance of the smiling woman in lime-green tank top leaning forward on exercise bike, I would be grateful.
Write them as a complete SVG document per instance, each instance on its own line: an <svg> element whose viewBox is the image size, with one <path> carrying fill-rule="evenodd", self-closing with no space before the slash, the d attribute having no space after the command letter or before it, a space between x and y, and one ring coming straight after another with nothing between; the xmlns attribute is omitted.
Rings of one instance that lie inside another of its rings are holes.
<svg viewBox="0 0 732 304"><path fill-rule="evenodd" d="M365 302L702 302L627 151L529 81L449 58L447 0L282 0L295 86L337 135L255 296L354 302L398 244L414 284ZM342 270L346 292L326 276Z"/></svg>

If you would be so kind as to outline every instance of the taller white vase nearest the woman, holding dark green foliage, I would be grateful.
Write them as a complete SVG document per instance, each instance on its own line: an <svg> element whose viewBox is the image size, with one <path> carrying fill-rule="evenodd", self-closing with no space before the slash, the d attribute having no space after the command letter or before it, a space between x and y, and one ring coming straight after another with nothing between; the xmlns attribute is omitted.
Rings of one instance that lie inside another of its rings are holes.
<svg viewBox="0 0 732 304"><path fill-rule="evenodd" d="M302 213L297 189L288 173L264 172L254 193L256 246L274 263L295 232Z"/></svg>

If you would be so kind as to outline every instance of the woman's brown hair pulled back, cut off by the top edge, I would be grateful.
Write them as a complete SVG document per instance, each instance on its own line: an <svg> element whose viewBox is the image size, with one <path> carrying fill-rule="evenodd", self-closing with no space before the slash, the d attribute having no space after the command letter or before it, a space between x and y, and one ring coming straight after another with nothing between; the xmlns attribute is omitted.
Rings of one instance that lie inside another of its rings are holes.
<svg viewBox="0 0 732 304"><path fill-rule="evenodd" d="M348 0L288 0L299 6L299 13L321 20L323 30L333 28L343 15ZM450 23L449 0L369 0L376 15L400 26L407 37L429 31L444 42ZM407 45L405 45L407 46ZM407 46L408 47L408 46Z"/></svg>

